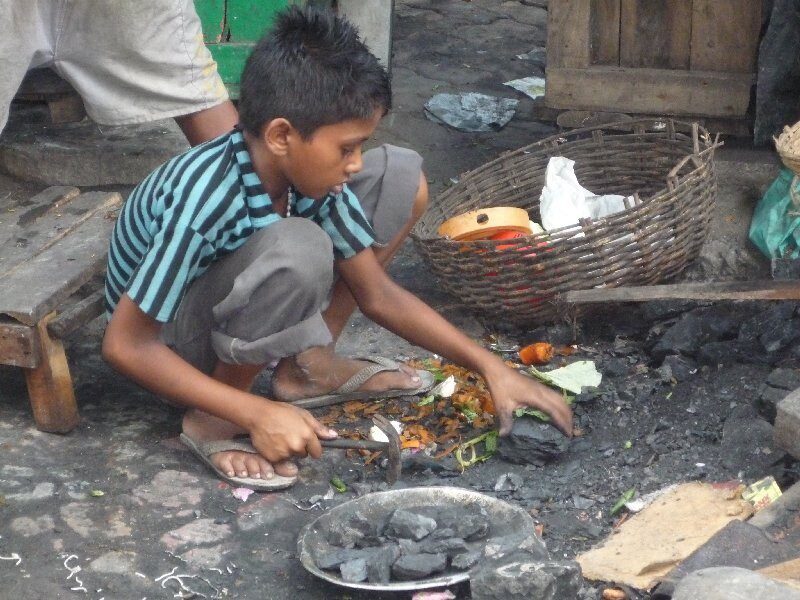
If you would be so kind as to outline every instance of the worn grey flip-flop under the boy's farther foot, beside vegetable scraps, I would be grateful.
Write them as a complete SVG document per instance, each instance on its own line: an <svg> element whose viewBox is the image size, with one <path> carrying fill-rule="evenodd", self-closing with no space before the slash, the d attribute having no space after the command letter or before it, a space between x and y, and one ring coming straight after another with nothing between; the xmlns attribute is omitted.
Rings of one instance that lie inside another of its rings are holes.
<svg viewBox="0 0 800 600"><path fill-rule="evenodd" d="M322 406L331 406L333 404L340 404L350 400L379 400L382 398L397 398L398 396L416 396L424 394L429 391L435 383L433 373L423 369L417 369L417 376L420 378L420 385L413 389L393 389L393 390L375 390L375 391L358 391L364 383L373 375L383 373L384 371L399 371L400 364L397 361L382 356L355 356L355 360L363 360L373 364L368 365L361 369L358 373L353 375L350 379L344 382L339 389L322 396L314 396L313 398L302 398L291 402L294 406L300 408L320 408Z"/></svg>

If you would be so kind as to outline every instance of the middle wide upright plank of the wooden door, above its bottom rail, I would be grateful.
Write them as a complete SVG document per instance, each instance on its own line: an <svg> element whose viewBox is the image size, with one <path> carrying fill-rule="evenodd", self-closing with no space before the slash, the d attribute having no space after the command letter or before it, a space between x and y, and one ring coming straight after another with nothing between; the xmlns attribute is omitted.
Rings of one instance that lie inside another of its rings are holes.
<svg viewBox="0 0 800 600"><path fill-rule="evenodd" d="M690 0L622 0L620 66L688 69Z"/></svg>

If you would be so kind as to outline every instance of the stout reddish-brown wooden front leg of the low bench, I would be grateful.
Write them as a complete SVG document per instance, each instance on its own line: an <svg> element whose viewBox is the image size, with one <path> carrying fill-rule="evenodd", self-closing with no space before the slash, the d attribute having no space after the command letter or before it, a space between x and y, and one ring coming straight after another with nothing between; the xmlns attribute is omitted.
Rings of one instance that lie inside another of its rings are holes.
<svg viewBox="0 0 800 600"><path fill-rule="evenodd" d="M47 333L51 318L52 314L36 325L42 360L35 369L25 369L25 382L37 429L67 433L78 424L78 405L64 346Z"/></svg>

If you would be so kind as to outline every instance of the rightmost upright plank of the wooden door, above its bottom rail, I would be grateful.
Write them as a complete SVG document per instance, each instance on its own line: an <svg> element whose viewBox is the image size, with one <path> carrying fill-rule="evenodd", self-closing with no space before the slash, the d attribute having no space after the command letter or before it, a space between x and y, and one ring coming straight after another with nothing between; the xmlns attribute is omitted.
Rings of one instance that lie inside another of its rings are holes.
<svg viewBox="0 0 800 600"><path fill-rule="evenodd" d="M691 69L754 73L761 2L694 0Z"/></svg>

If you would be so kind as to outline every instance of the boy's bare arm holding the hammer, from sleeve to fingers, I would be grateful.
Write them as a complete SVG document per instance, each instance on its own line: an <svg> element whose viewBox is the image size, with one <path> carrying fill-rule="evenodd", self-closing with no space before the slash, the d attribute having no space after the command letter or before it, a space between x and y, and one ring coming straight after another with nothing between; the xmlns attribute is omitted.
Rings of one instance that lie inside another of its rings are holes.
<svg viewBox="0 0 800 600"><path fill-rule="evenodd" d="M319 458L318 438L335 437L308 411L238 390L195 369L160 340L160 330L160 323L123 295L106 328L103 358L160 396L239 425L272 463L292 456Z"/></svg>

